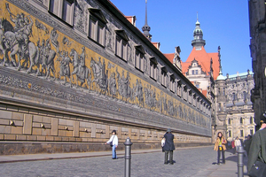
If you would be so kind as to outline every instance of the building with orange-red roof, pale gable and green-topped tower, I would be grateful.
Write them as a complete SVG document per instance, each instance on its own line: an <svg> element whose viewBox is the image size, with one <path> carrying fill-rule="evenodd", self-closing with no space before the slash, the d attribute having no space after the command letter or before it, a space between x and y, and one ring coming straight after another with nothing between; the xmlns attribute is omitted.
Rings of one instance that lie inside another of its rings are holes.
<svg viewBox="0 0 266 177"><path fill-rule="evenodd" d="M219 75L220 67L220 47L218 52L207 53L204 49L206 41L203 39L203 31L200 28L200 22L197 19L193 31L192 52L189 57L182 62L179 57L181 50L175 53L164 54L169 61L173 63L187 79L192 81L193 85L207 97L212 103L212 136L213 140L217 132L225 133L226 128L223 122L219 122L215 115L215 80ZM177 47L176 49L180 49ZM179 52L178 52L179 51ZM179 58L178 58L179 57Z"/></svg>

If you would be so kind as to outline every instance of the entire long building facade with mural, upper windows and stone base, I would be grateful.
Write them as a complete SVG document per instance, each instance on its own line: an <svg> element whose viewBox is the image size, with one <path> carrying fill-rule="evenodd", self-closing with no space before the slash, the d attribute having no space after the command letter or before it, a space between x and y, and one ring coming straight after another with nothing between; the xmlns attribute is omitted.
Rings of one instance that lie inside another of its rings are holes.
<svg viewBox="0 0 266 177"><path fill-rule="evenodd" d="M211 142L211 102L111 1L0 6L0 154Z"/></svg>

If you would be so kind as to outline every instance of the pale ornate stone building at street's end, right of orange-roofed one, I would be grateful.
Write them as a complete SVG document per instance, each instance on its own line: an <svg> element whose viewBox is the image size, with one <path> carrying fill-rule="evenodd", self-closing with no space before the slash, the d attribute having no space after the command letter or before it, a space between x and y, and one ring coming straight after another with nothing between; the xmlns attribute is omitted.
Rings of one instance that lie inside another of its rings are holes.
<svg viewBox="0 0 266 177"><path fill-rule="evenodd" d="M249 70L226 77L221 72L215 81L216 115L226 127L229 141L237 136L244 140L247 135L254 135L254 110L250 99L253 76Z"/></svg>

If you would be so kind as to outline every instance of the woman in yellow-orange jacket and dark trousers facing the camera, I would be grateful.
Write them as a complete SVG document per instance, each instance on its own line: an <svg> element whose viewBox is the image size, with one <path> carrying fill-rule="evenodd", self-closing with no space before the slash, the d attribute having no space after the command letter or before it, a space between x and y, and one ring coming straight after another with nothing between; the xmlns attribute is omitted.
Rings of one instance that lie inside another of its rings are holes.
<svg viewBox="0 0 266 177"><path fill-rule="evenodd" d="M217 165L220 165L220 156L222 152L222 157L223 157L223 164L225 164L225 158L224 158L224 150L226 150L225 144L227 141L223 137L222 132L218 132L217 139L215 142L215 149L218 154L217 154Z"/></svg>

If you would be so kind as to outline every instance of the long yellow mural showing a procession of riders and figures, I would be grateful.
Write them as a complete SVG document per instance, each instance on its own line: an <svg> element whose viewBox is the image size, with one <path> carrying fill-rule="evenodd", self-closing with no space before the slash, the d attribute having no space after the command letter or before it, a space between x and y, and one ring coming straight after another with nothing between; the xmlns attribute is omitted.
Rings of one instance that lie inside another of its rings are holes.
<svg viewBox="0 0 266 177"><path fill-rule="evenodd" d="M87 89L200 127L209 125L205 114L103 58L71 36L6 1L1 1L0 6L1 65L65 87Z"/></svg>

